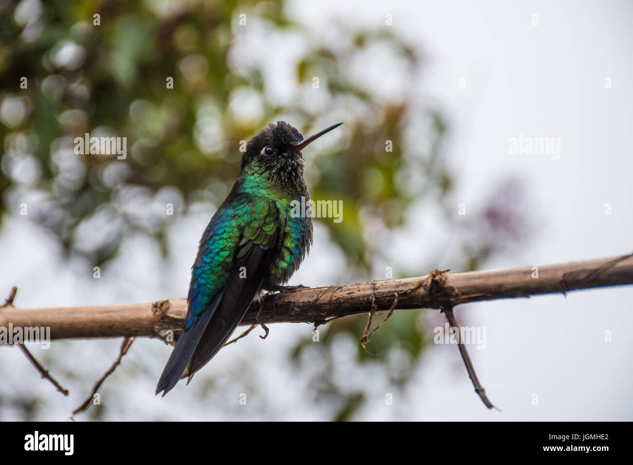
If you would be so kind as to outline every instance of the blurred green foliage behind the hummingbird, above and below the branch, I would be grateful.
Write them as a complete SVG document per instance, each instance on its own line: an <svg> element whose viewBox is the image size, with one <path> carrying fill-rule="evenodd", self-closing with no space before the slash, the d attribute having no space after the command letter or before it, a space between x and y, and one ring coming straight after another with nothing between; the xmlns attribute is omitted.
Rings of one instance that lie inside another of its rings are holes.
<svg viewBox="0 0 633 465"><path fill-rule="evenodd" d="M277 119L304 135L345 122L325 149L314 144L306 170L313 199L343 200L344 221L322 223L346 257L341 276L372 277L380 255L373 232L403 225L417 199L455 217L440 150L446 123L420 98L422 56L389 28L332 21L328 40L289 18L279 0L0 4L0 218L26 204L68 256L102 264L130 232L167 252L165 228L196 202L219 204L237 177L242 141ZM382 58L365 65L367 56ZM396 72L401 84L379 92L364 71ZM127 158L75 154L73 139L84 133L126 137ZM174 216L165 214L168 203ZM458 265L476 268L498 239L489 229L475 237ZM351 337L358 369L379 364L400 386L427 344L415 312L375 321L375 357L357 344L366 317L320 328L325 344L315 350L325 363L311 371L311 389L334 406L332 418L351 418L365 399L362 385L337 385L332 341ZM290 355L299 369L309 369L308 345ZM393 351L406 361L398 369Z"/></svg>

